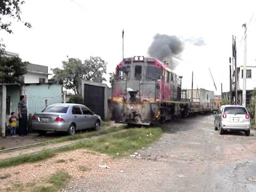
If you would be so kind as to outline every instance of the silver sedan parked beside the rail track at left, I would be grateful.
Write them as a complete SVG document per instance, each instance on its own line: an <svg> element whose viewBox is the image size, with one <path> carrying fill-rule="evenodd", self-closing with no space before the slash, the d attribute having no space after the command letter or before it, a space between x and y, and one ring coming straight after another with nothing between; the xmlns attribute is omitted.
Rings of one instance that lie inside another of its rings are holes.
<svg viewBox="0 0 256 192"><path fill-rule="evenodd" d="M39 134L47 131L67 132L75 134L77 130L94 128L100 129L101 118L84 105L75 103L52 104L42 113L31 117L32 128Z"/></svg>

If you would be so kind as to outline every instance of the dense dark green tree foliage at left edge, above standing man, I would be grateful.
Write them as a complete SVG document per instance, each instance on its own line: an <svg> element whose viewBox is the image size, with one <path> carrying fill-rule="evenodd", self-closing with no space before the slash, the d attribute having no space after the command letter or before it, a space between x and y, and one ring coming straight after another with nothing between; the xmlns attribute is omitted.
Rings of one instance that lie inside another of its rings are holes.
<svg viewBox="0 0 256 192"><path fill-rule="evenodd" d="M28 62L19 57L0 57L0 83L23 83L21 76L27 73Z"/></svg>

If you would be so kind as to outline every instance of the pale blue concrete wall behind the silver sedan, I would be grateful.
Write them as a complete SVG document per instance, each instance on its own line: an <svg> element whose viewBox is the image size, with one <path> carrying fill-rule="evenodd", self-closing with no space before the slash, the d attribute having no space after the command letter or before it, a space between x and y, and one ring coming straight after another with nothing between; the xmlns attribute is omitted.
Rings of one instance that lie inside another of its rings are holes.
<svg viewBox="0 0 256 192"><path fill-rule="evenodd" d="M59 84L30 84L26 85L26 97L28 113L34 114L41 112L46 102L61 103L61 85ZM47 100L47 101L46 101Z"/></svg>

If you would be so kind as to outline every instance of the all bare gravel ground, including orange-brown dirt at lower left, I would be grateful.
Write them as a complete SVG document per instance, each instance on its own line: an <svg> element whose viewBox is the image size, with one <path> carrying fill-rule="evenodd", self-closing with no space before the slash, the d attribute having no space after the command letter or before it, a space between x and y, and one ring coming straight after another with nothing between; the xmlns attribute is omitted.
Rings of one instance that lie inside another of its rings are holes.
<svg viewBox="0 0 256 192"><path fill-rule="evenodd" d="M256 132L220 135L213 116L166 124L163 137L130 157L113 159L86 150L62 153L44 162L1 169L2 189L19 181L40 185L58 170L71 176L62 191L256 191ZM59 159L64 162L57 163ZM107 165L108 169L101 165ZM80 166L88 169L81 171ZM1 176L1 175L0 175ZM4 191L4 190L3 190Z"/></svg>

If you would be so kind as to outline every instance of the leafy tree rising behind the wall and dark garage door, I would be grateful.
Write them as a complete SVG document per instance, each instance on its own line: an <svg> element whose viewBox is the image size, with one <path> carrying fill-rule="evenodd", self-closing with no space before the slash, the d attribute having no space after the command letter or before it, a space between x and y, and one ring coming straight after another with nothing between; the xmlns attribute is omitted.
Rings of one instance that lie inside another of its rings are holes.
<svg viewBox="0 0 256 192"><path fill-rule="evenodd" d="M71 89L79 94L78 86L80 79L102 83L107 73L107 62L100 57L90 57L82 62L80 59L70 58L62 62L62 69L54 68L53 78L62 83L66 89Z"/></svg>

